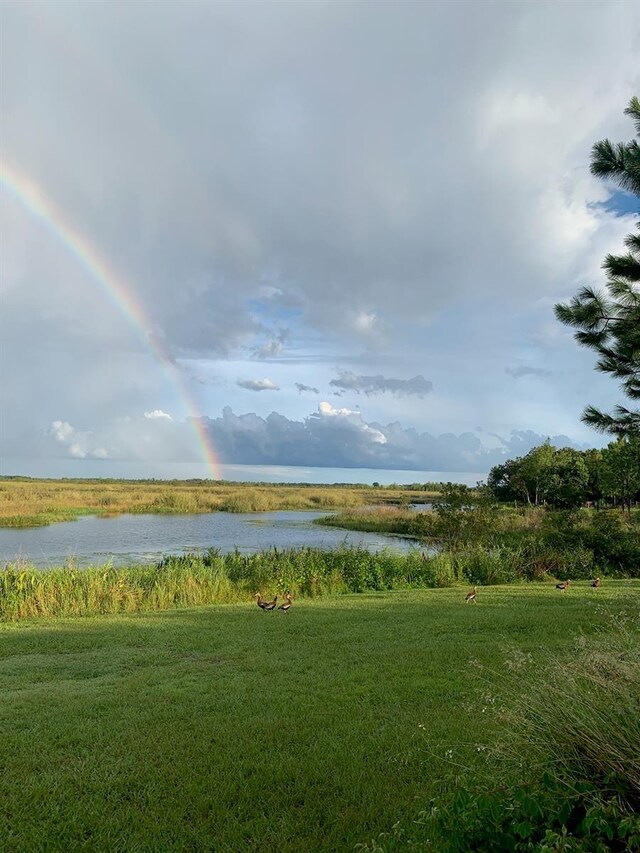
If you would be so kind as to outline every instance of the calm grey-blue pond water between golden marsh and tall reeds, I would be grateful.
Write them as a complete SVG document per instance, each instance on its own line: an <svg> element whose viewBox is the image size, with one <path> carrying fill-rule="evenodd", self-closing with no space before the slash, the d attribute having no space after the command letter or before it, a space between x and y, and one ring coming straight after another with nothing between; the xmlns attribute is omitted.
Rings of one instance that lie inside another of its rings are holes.
<svg viewBox="0 0 640 853"><path fill-rule="evenodd" d="M201 515L81 516L48 527L0 528L0 563L40 568L154 563L166 554L218 548L245 553L266 548L361 546L406 552L416 542L399 536L339 530L313 524L322 512L206 513Z"/></svg>

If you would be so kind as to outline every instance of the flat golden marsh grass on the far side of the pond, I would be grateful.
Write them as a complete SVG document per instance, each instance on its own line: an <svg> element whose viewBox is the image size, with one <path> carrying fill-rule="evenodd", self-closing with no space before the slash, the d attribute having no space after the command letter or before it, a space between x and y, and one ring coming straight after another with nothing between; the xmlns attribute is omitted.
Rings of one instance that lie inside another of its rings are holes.
<svg viewBox="0 0 640 853"><path fill-rule="evenodd" d="M81 514L268 512L424 501L399 486L315 486L211 481L0 480L0 527L34 527Z"/></svg>

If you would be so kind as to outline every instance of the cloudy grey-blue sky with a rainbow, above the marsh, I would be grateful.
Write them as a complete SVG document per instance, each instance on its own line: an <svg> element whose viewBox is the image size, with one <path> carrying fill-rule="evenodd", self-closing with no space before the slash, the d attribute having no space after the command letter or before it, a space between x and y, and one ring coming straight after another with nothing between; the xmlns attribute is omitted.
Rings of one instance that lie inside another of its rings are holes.
<svg viewBox="0 0 640 853"><path fill-rule="evenodd" d="M637 219L589 173L637 3L4 0L0 42L0 473L603 443L553 306Z"/></svg>

